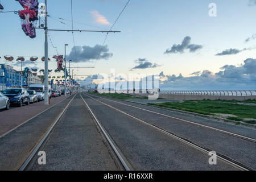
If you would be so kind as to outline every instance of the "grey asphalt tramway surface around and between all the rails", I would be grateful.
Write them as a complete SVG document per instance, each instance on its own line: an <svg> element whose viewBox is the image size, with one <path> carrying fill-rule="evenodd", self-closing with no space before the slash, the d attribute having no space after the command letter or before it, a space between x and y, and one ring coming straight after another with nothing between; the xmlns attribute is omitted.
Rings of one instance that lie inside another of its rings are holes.
<svg viewBox="0 0 256 182"><path fill-rule="evenodd" d="M175 113L152 106L110 98L106 100L93 94L86 95L81 93L81 95L125 160L135 170L238 170L237 167L221 159L217 159L216 165L210 165L208 162L210 158L208 152L199 150L199 148L171 137L154 127L140 122L138 119L188 139L200 146L210 148L210 150L226 155L251 168L256 168L255 142L123 104L189 119L189 121L203 123L204 125L217 127L218 129L255 139L254 129L210 121L209 119ZM73 100L71 101L72 98ZM133 117L104 105L93 98ZM53 127L48 138L39 148L39 151L46 152L46 165L39 165L38 155L35 155L27 169L122 169L112 148L106 142L105 137L102 137L100 129L89 113L80 94L76 94L75 97L72 96L59 102L51 109L46 110L44 113L39 114L1 137L0 170L18 169L69 101L71 101L71 104L68 106L67 111L55 127Z"/></svg>

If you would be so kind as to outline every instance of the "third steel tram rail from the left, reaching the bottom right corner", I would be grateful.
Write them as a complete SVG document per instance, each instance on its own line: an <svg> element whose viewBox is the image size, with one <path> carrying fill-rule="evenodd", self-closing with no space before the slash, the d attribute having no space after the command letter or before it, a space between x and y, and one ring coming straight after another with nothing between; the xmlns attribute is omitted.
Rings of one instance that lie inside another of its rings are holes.
<svg viewBox="0 0 256 182"><path fill-rule="evenodd" d="M88 94L85 94L85 96L88 96ZM88 97L90 97L90 96L88 96ZM93 97L90 97L90 98L92 98L92 99L95 100L95 101L100 102L101 104L104 104L104 105L106 105L106 106L109 106L109 107L111 107L112 109L115 109L115 110L119 111L120 113L126 114L126 115L128 115L129 117L132 117L132 118L136 119L137 121L144 123L145 125L151 126L151 127L153 127L154 129L157 129L157 130L161 131L162 133L167 134L167 135L170 136L170 137L173 137L173 138L175 138L175 139L177 139L177 140L180 140L181 142L184 142L184 143L186 143L186 144L189 144L190 146L192 146L192 147L194 147L194 148L197 148L197 149L199 149L199 150L201 150L201 151L204 151L204 152L206 152L207 154L212 151L212 150L210 150L209 148L199 146L199 144L193 143L192 141L190 141L190 140L188 140L188 139L185 139L185 138L183 138L183 137L180 137L180 136L178 136L178 135L176 135L176 134L174 134L174 133L171 133L170 131L165 131L165 130L161 129L161 128L158 127L158 126L151 125L150 123L148 123L148 122L146 122L146 121L143 121L142 119L139 119L139 118L137 118L137 117L134 117L133 115L130 115L130 114L126 113L125 111L119 110L119 109L117 109L117 108L115 108L115 107L113 107L113 106L110 106L110 105L108 105L108 104L105 104L104 102L101 102L101 101L99 101L99 100L97 100L97 99L95 99L95 98L93 98ZM242 169L242 170L244 170L244 171L254 171L253 168L248 167L248 166L246 166L246 165L244 165L244 164L242 164L242 163L240 163L240 162L237 162L236 160L231 159L231 158L229 158L228 156L219 154L218 152L216 152L216 157L219 158L219 159L221 159L221 160L224 160L226 163L229 163L229 164L231 164L232 166L236 166L237 168L240 168L240 169Z"/></svg>

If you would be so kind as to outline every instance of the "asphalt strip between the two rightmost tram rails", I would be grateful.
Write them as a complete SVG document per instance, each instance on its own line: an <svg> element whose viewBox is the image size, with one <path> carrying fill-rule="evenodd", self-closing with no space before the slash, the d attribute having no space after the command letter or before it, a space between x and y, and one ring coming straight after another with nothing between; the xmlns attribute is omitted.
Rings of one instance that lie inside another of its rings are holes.
<svg viewBox="0 0 256 182"><path fill-rule="evenodd" d="M118 104L117 102L112 102L111 101L112 99L109 99L109 98L108 100L105 100L103 98L93 96L92 94L90 94L89 96L96 98L97 100L100 100L117 109L125 111L126 113L131 114L139 119L142 119L143 121L151 123L152 125L158 126L161 129L169 131L170 133L179 135L179 137L188 139L193 143L199 144L199 146L207 147L212 151L216 151L219 154L228 156L229 158L235 159L238 162L245 164L246 166L256 169L256 143L255 142L237 138L237 137L220 133L218 131L210 130L204 127L196 126L191 123L182 122L178 119L168 118L155 113L150 113L145 110ZM114 101L117 101L117 100L114 100ZM94 102L97 102L97 101L94 101ZM122 101L121 103L152 110L152 107L149 107L149 106L144 106L144 105L142 106L139 104L130 104ZM100 104L100 103L97 102L97 104ZM165 114L172 115L168 113L168 110L156 108L154 109L154 111L159 111L160 113L164 112ZM200 119L201 118L197 118L197 121L199 121ZM214 121L208 121L208 122L214 122ZM225 125L225 123L218 122L219 126L221 124L223 126ZM256 138L255 129L244 128L236 125L226 125L225 127L228 127L228 126L237 127L236 130L238 129L244 130L243 131L244 133L247 131L246 132L247 136L253 137L254 139Z"/></svg>

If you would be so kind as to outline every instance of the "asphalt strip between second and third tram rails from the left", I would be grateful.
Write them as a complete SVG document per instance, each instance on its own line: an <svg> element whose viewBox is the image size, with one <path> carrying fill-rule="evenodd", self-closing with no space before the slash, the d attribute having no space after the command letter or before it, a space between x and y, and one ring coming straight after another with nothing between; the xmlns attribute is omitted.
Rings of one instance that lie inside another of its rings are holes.
<svg viewBox="0 0 256 182"><path fill-rule="evenodd" d="M92 96L92 95L90 95ZM217 159L216 165L208 163L207 152L198 150L180 140L170 137L148 125L139 122L111 107L83 95L85 101L96 114L98 120L108 131L110 137L125 155L136 170L236 170L237 168ZM93 96L94 97L94 96ZM97 98L98 99L98 98ZM105 100L100 99L102 102ZM108 102L110 104L110 101ZM118 109L129 111L123 105L111 104ZM142 113L138 109L130 109L132 115L142 118L144 121L164 122L164 118ZM155 123L156 124L156 123ZM181 126L180 126L181 124ZM170 128L182 128L182 123L166 123ZM195 138L202 137L199 129L184 129L184 133L191 133ZM198 130L193 132L193 130ZM188 132L189 131L189 132ZM192 131L192 132L191 132ZM214 135L214 134L212 134ZM217 135L217 134L216 134ZM223 138L222 138L223 139ZM218 141L220 142L220 141ZM214 143L218 143L214 142ZM255 155L255 152L253 153Z"/></svg>

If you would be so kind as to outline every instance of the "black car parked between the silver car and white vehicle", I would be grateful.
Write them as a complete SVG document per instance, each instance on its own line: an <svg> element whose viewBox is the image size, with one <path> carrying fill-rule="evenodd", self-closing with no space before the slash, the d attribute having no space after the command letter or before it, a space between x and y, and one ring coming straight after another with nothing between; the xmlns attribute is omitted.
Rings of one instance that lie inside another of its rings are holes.
<svg viewBox="0 0 256 182"><path fill-rule="evenodd" d="M3 91L6 97L9 97L11 105L18 105L19 107L23 104L30 104L30 95L27 93L26 89L6 89Z"/></svg>

